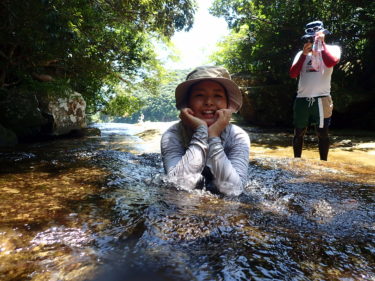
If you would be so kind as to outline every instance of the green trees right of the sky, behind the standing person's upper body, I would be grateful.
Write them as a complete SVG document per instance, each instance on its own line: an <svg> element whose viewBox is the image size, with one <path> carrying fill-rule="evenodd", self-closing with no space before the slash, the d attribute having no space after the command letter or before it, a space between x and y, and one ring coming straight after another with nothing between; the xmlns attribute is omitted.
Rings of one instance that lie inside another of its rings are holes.
<svg viewBox="0 0 375 281"><path fill-rule="evenodd" d="M374 73L372 0L215 0L211 12L224 17L233 30L223 46L230 55L222 59L232 71L266 72L270 78L284 82L291 59L301 48L305 24L319 19L332 32L327 41L343 48L340 83L350 78L348 85L374 86L363 84Z"/></svg>

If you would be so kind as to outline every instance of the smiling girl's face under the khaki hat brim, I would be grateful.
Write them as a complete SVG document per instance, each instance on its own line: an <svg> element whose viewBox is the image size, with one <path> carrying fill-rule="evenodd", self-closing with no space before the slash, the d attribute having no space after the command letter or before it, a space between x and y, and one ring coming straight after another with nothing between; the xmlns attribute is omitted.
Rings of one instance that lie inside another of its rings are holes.
<svg viewBox="0 0 375 281"><path fill-rule="evenodd" d="M198 82L190 90L188 106L195 117L211 126L216 121L216 111L228 108L225 89L221 84L211 80Z"/></svg>

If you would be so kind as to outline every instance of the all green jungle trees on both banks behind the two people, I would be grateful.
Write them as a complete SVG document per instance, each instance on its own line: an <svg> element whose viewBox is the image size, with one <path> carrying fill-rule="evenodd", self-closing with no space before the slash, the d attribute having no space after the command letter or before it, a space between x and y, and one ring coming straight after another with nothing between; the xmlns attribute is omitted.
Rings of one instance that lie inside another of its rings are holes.
<svg viewBox="0 0 375 281"><path fill-rule="evenodd" d="M163 69L155 44L189 30L195 10L195 0L3 0L0 98L14 89L38 95L73 89L88 113L173 119L174 87L187 70ZM214 0L210 12L231 30L213 54L216 64L255 86L275 86L271 95L253 95L254 105L264 107L258 116L269 119L267 112L285 112L295 95L288 70L305 24L322 20L331 32L327 42L343 54L332 78L335 116L375 128L375 1Z"/></svg>

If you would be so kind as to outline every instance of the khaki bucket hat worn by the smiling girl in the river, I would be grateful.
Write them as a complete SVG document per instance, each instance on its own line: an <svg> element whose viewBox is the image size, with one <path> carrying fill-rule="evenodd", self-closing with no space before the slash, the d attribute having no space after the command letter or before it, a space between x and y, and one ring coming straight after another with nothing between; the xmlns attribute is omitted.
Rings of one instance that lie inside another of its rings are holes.
<svg viewBox="0 0 375 281"><path fill-rule="evenodd" d="M228 70L221 66L199 66L190 72L186 80L176 87L176 107L177 109L187 106L187 94L190 87L202 80L212 80L221 84L227 92L228 108L237 112L242 106L242 93L238 85L231 80Z"/></svg>

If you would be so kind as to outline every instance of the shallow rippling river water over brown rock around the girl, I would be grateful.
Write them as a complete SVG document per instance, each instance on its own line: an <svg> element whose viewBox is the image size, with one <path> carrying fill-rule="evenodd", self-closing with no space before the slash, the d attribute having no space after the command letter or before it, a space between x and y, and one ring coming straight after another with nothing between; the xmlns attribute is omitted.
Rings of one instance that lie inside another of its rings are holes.
<svg viewBox="0 0 375 281"><path fill-rule="evenodd" d="M0 152L0 280L375 279L369 171L258 155L239 198L188 193L144 127L100 127Z"/></svg>

